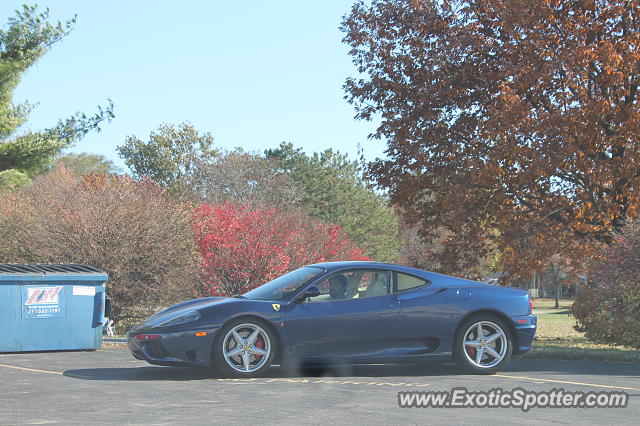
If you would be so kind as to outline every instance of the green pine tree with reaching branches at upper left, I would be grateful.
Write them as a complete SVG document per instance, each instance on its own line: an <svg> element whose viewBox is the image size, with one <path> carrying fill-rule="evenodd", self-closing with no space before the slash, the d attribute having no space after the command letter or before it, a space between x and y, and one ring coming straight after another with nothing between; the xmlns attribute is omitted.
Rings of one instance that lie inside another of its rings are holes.
<svg viewBox="0 0 640 426"><path fill-rule="evenodd" d="M19 128L33 106L14 104L13 92L20 78L55 43L73 29L75 18L50 23L48 10L24 6L0 29L0 187L19 188L51 165L53 157L103 121L113 118L113 105L99 108L93 116L77 113L40 131Z"/></svg>

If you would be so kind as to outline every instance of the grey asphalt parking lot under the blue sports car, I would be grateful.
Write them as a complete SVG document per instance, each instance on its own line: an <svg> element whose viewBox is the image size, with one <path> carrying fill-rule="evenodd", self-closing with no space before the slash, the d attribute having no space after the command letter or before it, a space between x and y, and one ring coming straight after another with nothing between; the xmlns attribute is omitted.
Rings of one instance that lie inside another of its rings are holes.
<svg viewBox="0 0 640 426"><path fill-rule="evenodd" d="M154 367L126 349L0 354L0 424L637 424L640 365L513 359L494 376L452 366L274 368L230 380ZM398 391L625 391L626 408L399 408Z"/></svg>

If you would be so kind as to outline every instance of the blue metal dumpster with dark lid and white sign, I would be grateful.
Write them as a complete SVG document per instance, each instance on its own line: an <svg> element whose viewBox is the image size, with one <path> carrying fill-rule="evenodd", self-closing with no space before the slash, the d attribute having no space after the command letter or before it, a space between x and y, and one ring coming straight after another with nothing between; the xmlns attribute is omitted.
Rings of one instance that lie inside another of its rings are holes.
<svg viewBox="0 0 640 426"><path fill-rule="evenodd" d="M99 348L107 279L87 265L0 264L0 352Z"/></svg>

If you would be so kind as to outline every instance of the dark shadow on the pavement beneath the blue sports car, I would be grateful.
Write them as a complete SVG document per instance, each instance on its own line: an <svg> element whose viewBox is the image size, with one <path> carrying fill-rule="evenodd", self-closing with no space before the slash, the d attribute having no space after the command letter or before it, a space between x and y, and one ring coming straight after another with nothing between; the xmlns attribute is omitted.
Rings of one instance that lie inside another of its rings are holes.
<svg viewBox="0 0 640 426"><path fill-rule="evenodd" d="M81 380L189 381L223 379L211 370L180 367L83 368L67 370L66 377ZM344 365L272 367L262 378L302 377L425 377L465 374L453 364Z"/></svg>

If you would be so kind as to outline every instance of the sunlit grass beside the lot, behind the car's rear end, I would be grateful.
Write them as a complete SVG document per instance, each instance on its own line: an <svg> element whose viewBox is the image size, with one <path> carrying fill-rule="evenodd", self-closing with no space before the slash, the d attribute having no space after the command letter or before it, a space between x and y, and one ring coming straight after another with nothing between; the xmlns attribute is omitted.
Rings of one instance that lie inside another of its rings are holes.
<svg viewBox="0 0 640 426"><path fill-rule="evenodd" d="M594 343L576 331L571 315L571 301L561 300L553 309L553 299L537 299L533 313L538 317L538 330L531 351L523 358L568 359L587 361L640 362L640 350L625 346Z"/></svg>

